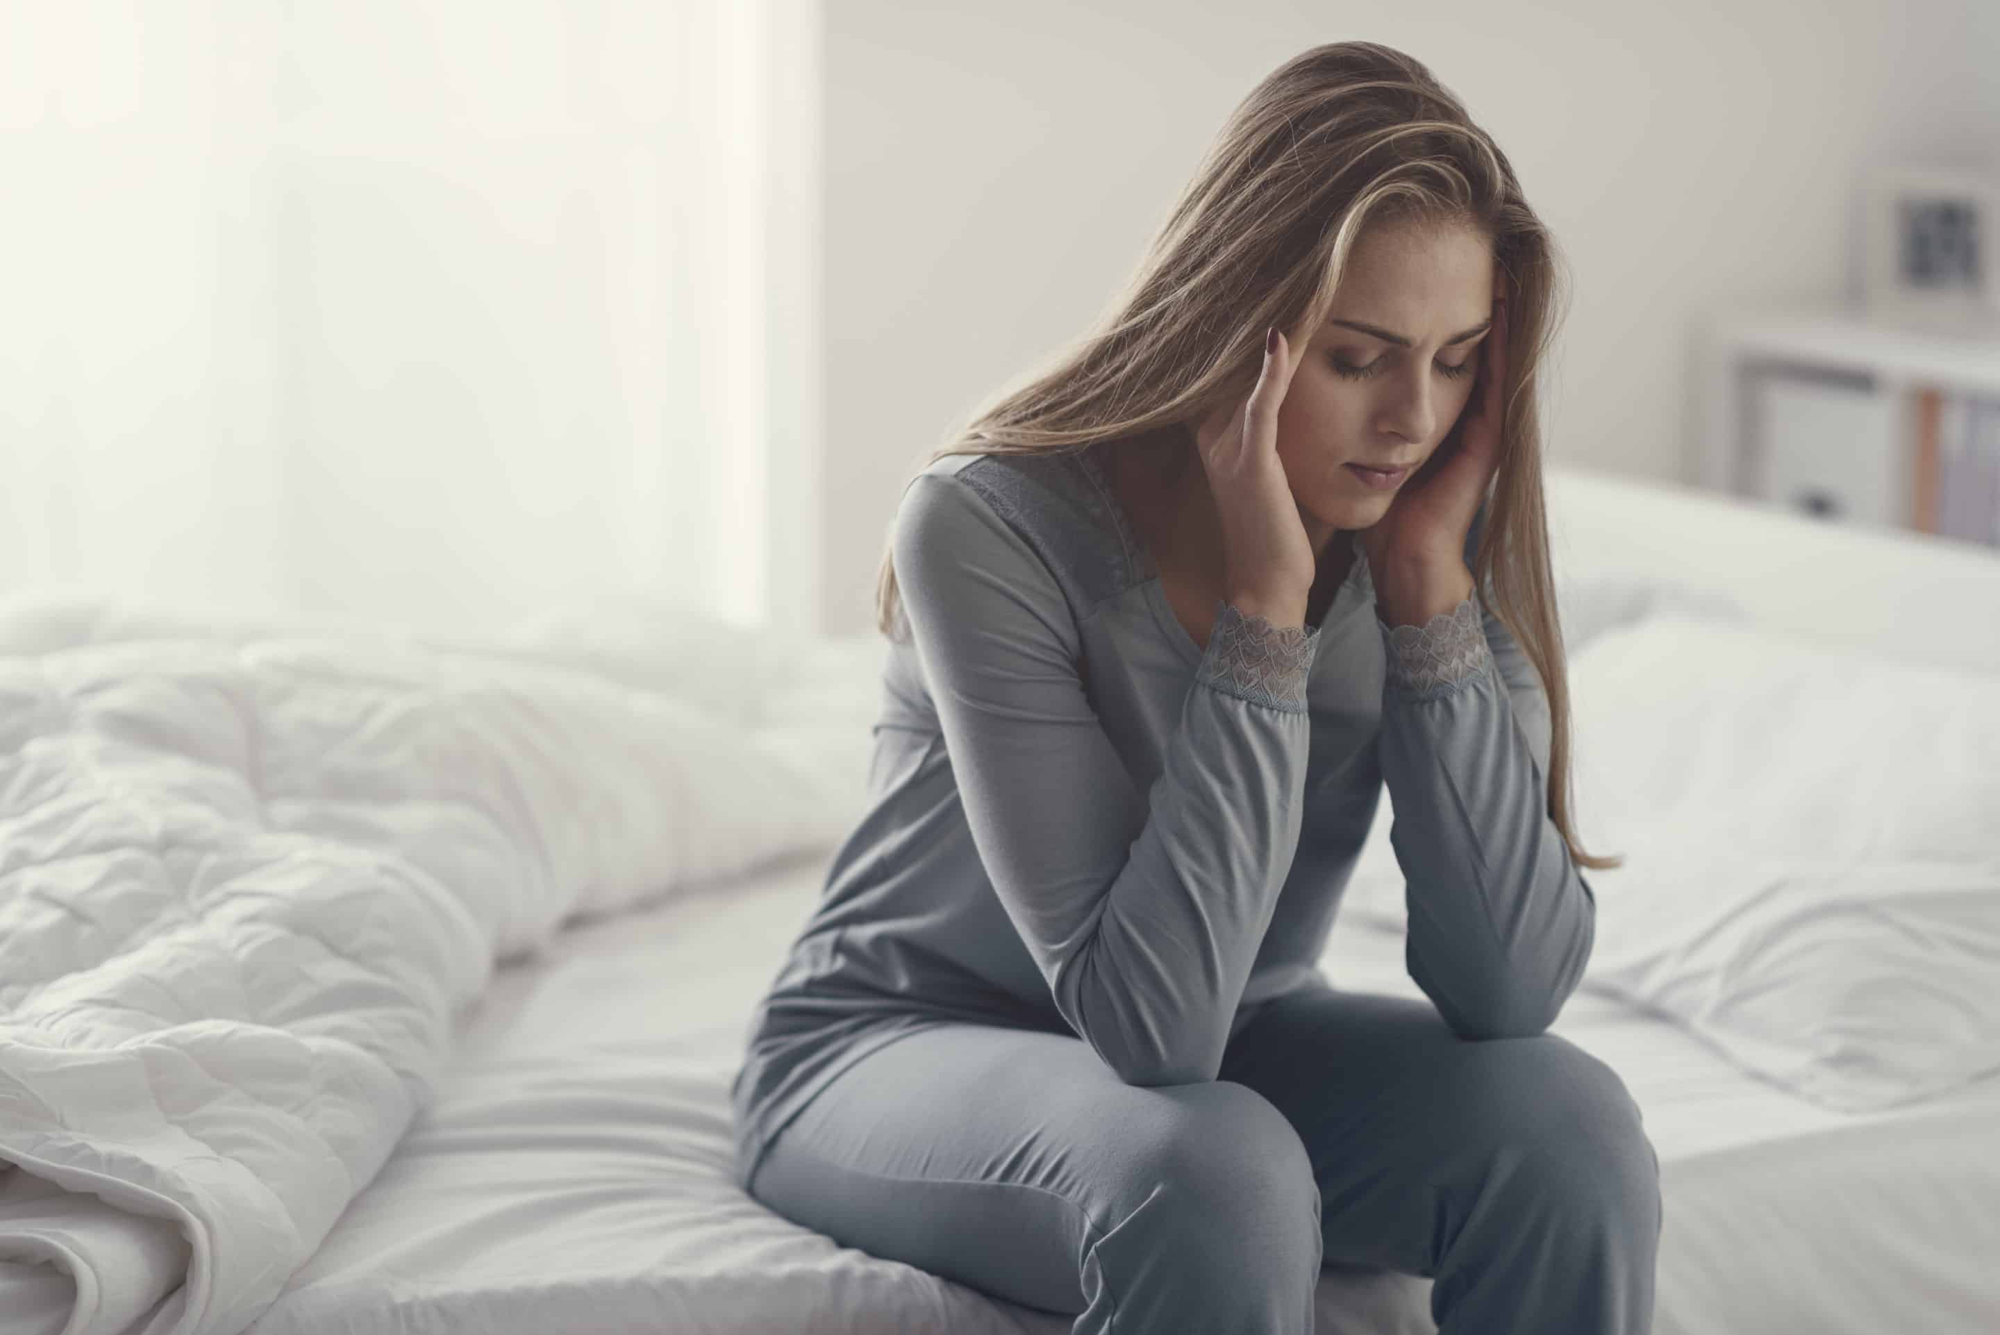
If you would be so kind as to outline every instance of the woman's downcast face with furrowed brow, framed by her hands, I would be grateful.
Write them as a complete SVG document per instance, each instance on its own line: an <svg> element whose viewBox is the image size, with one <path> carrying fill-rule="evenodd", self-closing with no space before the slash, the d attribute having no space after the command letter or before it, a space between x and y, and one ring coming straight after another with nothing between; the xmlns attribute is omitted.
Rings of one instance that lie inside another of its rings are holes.
<svg viewBox="0 0 2000 1335"><path fill-rule="evenodd" d="M1316 548L1374 526L1450 432L1492 304L1492 250L1472 230L1374 228L1356 242L1278 408L1278 458ZM1410 470L1380 490L1350 462Z"/></svg>

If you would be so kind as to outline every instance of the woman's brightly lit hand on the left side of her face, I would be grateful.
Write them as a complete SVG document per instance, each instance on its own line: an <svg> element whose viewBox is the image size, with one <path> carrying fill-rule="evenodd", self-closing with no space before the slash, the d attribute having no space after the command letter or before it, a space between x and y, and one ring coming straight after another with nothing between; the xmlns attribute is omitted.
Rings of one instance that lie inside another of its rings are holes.
<svg viewBox="0 0 2000 1335"><path fill-rule="evenodd" d="M1318 554L1278 458L1278 404L1296 368L1286 336L1270 330L1264 368L1250 394L1218 408L1194 430L1222 520L1224 596L1238 610L1284 626L1306 622L1306 598L1318 574Z"/></svg>

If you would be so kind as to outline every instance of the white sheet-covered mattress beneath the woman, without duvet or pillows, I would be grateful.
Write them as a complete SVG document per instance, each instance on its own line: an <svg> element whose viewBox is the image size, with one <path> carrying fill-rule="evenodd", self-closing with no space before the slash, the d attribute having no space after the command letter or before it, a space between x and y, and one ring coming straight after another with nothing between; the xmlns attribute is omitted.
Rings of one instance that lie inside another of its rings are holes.
<svg viewBox="0 0 2000 1335"><path fill-rule="evenodd" d="M732 1185L742 1029L824 867L572 927L504 969L438 1103L252 1335L1068 1331ZM1338 927L1324 969L1422 995L1394 933ZM1624 1077L1660 1153L1658 1335L2000 1329L2000 1081L1844 1115L1590 993L1556 1033ZM1428 1299L1428 1279L1328 1269L1318 1331L1430 1335Z"/></svg>

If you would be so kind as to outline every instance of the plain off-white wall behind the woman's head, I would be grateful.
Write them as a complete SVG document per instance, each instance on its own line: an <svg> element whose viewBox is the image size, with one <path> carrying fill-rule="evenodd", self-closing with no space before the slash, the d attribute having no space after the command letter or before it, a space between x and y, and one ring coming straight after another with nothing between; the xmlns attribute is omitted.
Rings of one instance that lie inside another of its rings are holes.
<svg viewBox="0 0 2000 1335"><path fill-rule="evenodd" d="M826 630L870 622L916 462L1084 332L1234 104L1292 54L1354 38L1454 88L1566 250L1546 418L1562 464L1692 478L1698 316L1856 292L1868 162L2000 166L1990 0L840 0Z"/></svg>

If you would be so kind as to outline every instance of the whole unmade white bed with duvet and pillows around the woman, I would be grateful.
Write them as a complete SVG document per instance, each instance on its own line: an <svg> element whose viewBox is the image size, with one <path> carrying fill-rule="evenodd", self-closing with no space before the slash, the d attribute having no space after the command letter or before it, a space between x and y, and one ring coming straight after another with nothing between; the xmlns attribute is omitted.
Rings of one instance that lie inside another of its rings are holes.
<svg viewBox="0 0 2000 1335"><path fill-rule="evenodd" d="M1550 522L1584 839L1632 859L1554 1031L1660 1153L1654 1329L2000 1329L2000 560L1576 470ZM0 1331L1066 1331L728 1175L876 654L0 606ZM1322 969L1420 997L1390 819ZM180 953L92 857L178 873ZM262 971L204 993L218 953ZM1328 1267L1316 1329L1428 1335L1428 1291Z"/></svg>

